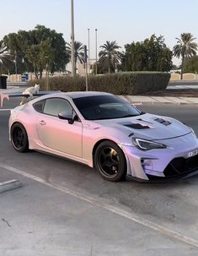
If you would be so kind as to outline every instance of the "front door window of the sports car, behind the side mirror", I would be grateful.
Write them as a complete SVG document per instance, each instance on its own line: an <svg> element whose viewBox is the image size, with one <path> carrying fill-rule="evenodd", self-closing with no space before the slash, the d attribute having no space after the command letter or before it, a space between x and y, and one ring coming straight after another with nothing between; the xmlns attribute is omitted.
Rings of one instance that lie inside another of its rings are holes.
<svg viewBox="0 0 198 256"><path fill-rule="evenodd" d="M72 114L72 106L64 99L46 99L43 112L47 115L58 117L60 112L68 112L69 114Z"/></svg>

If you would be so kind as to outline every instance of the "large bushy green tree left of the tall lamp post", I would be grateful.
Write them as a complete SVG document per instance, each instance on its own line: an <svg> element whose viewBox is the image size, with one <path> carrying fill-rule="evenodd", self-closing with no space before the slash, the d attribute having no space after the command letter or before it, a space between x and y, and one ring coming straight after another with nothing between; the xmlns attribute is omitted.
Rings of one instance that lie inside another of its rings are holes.
<svg viewBox="0 0 198 256"><path fill-rule="evenodd" d="M51 73L64 71L69 62L66 42L62 33L56 33L56 30L45 28L44 25L37 25L34 30L19 30L18 33L8 34L3 41L8 46L13 59L16 59L19 71L32 72L35 70L36 75L40 72L40 76L42 76L46 60L49 62ZM34 51L40 56L35 57Z"/></svg>

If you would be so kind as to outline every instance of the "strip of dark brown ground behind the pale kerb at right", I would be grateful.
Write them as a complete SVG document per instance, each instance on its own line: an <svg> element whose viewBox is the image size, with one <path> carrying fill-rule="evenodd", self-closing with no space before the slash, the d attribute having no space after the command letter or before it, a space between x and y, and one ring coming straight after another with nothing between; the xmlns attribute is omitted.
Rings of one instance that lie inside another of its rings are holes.
<svg viewBox="0 0 198 256"><path fill-rule="evenodd" d="M144 95L162 96L162 97L198 97L197 89L169 89L169 90L159 90L156 92L148 92Z"/></svg>

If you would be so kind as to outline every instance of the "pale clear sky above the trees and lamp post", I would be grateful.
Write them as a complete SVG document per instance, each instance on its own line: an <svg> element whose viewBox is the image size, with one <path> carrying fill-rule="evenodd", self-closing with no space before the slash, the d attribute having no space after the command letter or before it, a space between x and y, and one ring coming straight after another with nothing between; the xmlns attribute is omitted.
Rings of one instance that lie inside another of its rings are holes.
<svg viewBox="0 0 198 256"><path fill-rule="evenodd" d="M88 45L95 57L106 41L116 41L121 50L132 41L144 41L151 35L163 35L172 50L176 37L189 32L198 38L198 1L188 0L73 0L75 41ZM0 0L0 40L19 30L45 25L71 38L71 0ZM198 39L195 40L198 42ZM174 58L174 64L179 60Z"/></svg>

